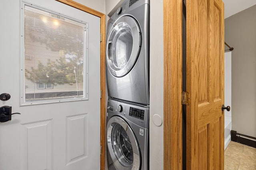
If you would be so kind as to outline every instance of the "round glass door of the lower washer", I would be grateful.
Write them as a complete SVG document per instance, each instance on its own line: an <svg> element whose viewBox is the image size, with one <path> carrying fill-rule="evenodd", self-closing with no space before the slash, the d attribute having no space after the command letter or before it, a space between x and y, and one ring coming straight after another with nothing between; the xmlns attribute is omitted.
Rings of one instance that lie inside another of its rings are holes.
<svg viewBox="0 0 256 170"><path fill-rule="evenodd" d="M140 151L130 126L118 116L109 119L107 125L108 150L117 170L139 170Z"/></svg>

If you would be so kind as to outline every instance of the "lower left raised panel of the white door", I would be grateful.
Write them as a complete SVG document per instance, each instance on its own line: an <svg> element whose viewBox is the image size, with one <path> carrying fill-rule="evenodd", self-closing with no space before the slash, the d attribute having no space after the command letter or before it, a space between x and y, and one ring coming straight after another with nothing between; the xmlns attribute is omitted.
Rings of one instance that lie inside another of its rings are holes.
<svg viewBox="0 0 256 170"><path fill-rule="evenodd" d="M52 119L24 123L20 129L22 169L52 170Z"/></svg>

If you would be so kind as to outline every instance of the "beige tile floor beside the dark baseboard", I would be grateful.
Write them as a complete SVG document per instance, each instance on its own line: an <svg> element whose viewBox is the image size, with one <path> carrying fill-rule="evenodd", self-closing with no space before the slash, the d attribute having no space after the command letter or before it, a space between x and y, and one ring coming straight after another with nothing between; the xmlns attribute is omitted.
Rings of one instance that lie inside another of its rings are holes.
<svg viewBox="0 0 256 170"><path fill-rule="evenodd" d="M231 141L224 155L224 170L256 170L256 148Z"/></svg>

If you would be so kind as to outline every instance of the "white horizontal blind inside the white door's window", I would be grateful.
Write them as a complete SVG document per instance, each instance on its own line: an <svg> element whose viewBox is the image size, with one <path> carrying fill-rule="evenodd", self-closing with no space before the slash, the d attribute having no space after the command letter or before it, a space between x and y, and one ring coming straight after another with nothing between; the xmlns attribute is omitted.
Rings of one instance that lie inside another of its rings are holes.
<svg viewBox="0 0 256 170"><path fill-rule="evenodd" d="M84 97L85 27L25 5L25 102Z"/></svg>

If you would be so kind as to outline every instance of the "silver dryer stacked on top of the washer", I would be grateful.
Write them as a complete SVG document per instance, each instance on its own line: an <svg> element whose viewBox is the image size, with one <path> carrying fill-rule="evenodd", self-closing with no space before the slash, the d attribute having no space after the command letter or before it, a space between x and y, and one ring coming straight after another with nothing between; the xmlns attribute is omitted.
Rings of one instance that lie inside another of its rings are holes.
<svg viewBox="0 0 256 170"><path fill-rule="evenodd" d="M108 96L149 105L149 0L125 0L107 36Z"/></svg>

